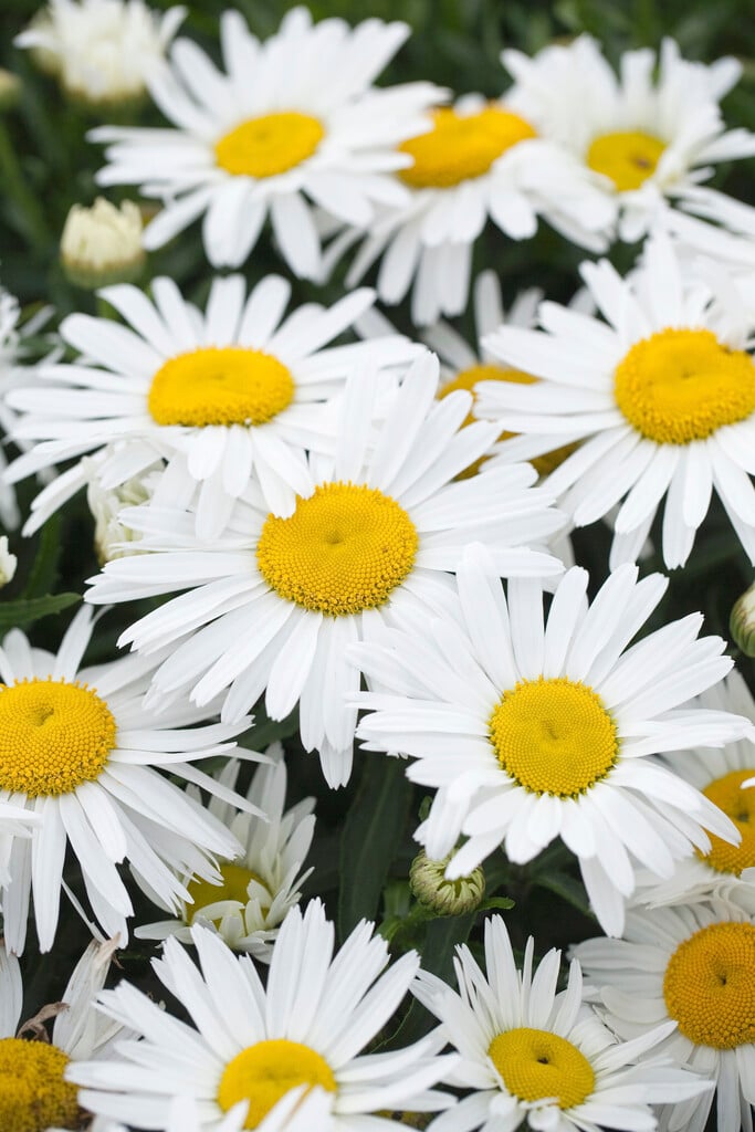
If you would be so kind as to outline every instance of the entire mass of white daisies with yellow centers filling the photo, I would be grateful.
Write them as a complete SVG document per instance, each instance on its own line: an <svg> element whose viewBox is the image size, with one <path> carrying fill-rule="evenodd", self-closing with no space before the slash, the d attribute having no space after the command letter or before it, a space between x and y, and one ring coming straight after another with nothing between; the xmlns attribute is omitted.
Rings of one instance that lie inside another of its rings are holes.
<svg viewBox="0 0 755 1132"><path fill-rule="evenodd" d="M0 1127L703 1132L714 1106L752 1132L755 704L638 565L684 567L714 494L755 565L755 209L705 183L755 155L719 106L738 63L667 41L617 75L582 36L454 101L374 85L403 23L297 8L260 41L226 11L218 65L185 15L53 0L17 38L104 118L152 98L163 127L91 131L96 179L153 201L140 264L201 218L209 266L187 294L109 263L35 361L51 312L0 298L0 517L20 541L85 491L98 560L57 652L0 646ZM506 312L472 277L489 221L642 242ZM297 305L290 276L344 295ZM410 292L411 337L381 309ZM467 306L472 343L440 319ZM591 578L572 533L598 523ZM87 662L121 603L120 654ZM426 916L560 839L595 936L563 971L488 917L455 986L367 921L336 947L263 711L334 791L402 760ZM93 942L27 1019L22 967L71 916ZM127 946L166 1002L110 971Z"/></svg>

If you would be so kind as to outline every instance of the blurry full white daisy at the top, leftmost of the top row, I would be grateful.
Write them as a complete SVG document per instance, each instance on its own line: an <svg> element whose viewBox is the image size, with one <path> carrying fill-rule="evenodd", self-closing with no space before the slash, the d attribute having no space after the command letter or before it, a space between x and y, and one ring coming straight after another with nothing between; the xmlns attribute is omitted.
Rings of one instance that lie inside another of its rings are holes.
<svg viewBox="0 0 755 1132"><path fill-rule="evenodd" d="M145 247L160 248L204 214L203 239L214 267L237 267L269 215L281 255L294 275L315 278L320 241L314 207L341 224L369 223L377 204L401 203L392 171L410 164L396 146L418 134L424 110L443 92L429 83L386 91L372 82L410 34L403 23L342 19L312 25L306 8L289 11L264 43L239 12L221 16L224 71L189 40L171 66L152 75L149 92L171 126L103 127L110 162L104 186L138 185L163 209Z"/></svg>

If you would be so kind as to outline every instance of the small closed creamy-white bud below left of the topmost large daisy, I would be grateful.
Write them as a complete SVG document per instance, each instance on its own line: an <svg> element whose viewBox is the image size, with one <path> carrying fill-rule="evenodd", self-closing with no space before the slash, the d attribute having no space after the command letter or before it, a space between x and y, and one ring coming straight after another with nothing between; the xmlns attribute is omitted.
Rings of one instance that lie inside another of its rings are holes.
<svg viewBox="0 0 755 1132"><path fill-rule="evenodd" d="M97 197L91 208L74 205L60 240L60 261L76 286L132 283L144 268L141 213L132 200L120 208Z"/></svg>

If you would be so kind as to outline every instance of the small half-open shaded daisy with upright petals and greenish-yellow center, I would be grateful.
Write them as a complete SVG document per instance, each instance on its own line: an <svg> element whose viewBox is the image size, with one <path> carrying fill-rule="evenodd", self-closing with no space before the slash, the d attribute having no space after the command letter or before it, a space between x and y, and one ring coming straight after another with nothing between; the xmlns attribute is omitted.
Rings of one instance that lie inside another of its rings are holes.
<svg viewBox="0 0 755 1132"><path fill-rule="evenodd" d="M257 767L247 792L247 800L264 817L240 813L221 798L209 801L211 814L243 846L241 856L218 863L222 884L185 877L192 903L182 906L180 919L138 927L134 933L138 940L174 935L181 943L191 943L190 927L203 924L214 926L233 951L248 952L259 962L269 963L280 925L301 900L299 889L312 872L302 871L302 865L315 832L315 799L304 798L285 811L283 747L275 743L265 754L271 762ZM220 781L233 790L238 773L238 761L230 760Z"/></svg>

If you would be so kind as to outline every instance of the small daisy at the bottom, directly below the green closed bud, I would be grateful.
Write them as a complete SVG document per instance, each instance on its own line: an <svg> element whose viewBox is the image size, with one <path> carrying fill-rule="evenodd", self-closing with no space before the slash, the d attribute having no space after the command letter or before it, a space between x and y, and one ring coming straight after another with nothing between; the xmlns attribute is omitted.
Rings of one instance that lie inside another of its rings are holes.
<svg viewBox="0 0 755 1132"><path fill-rule="evenodd" d="M674 1022L617 1041L583 1001L580 964L572 962L557 994L560 952L549 951L533 972L533 951L530 936L520 971L506 925L494 916L484 925L487 977L466 945L454 962L458 994L419 972L413 994L461 1055L446 1082L465 1092L430 1132L514 1132L524 1124L543 1132L651 1132L652 1104L710 1091L710 1082L668 1060L646 1057Z"/></svg>

